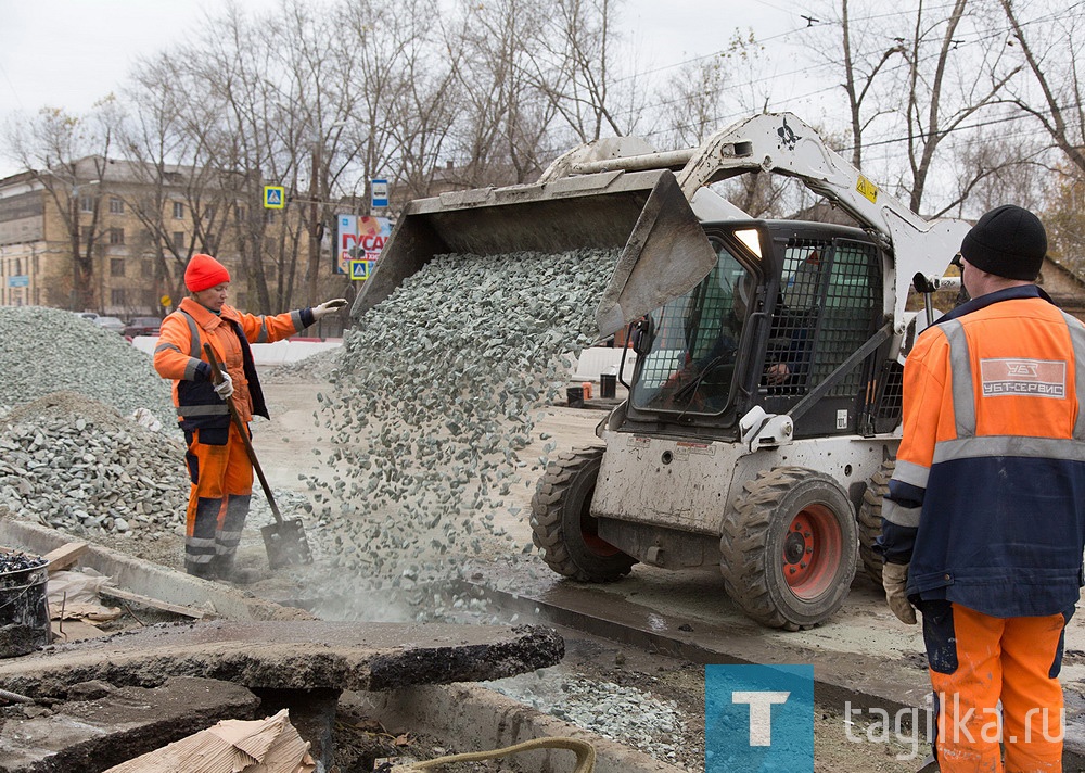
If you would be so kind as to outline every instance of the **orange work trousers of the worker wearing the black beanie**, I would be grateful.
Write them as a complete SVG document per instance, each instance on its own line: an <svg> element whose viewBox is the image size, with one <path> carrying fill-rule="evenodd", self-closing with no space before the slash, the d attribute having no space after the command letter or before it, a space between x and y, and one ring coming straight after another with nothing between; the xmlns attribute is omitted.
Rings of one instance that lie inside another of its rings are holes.
<svg viewBox="0 0 1085 773"><path fill-rule="evenodd" d="M939 770L1061 771L1064 724L1058 676L1069 618L993 618L959 604L928 605L923 636L937 709Z"/></svg>

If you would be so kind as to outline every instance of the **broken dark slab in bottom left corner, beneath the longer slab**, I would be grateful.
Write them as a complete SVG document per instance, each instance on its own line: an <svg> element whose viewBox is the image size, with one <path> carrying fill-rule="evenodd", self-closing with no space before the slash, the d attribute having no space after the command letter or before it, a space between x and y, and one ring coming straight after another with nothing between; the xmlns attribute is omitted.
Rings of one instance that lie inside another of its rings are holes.
<svg viewBox="0 0 1085 773"><path fill-rule="evenodd" d="M73 690L77 693L78 690ZM98 690L93 699L0 715L0 773L97 773L197 733L253 719L259 699L228 682L175 677L156 688Z"/></svg>

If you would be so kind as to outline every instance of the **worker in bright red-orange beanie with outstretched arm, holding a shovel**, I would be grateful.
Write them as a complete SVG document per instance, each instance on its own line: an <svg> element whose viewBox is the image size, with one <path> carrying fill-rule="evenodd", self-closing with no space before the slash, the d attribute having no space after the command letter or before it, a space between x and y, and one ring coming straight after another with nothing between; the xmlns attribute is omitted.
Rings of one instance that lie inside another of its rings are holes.
<svg viewBox="0 0 1085 773"><path fill-rule="evenodd" d="M250 344L293 335L346 305L335 299L276 316L256 316L226 304L230 273L210 255L193 255L184 270L191 295L162 321L154 367L174 380L177 420L184 430L184 460L192 486L186 512L184 569L205 579L243 581L233 563L253 493L253 466L226 401L245 423L268 418ZM214 383L203 346L222 369Z"/></svg>

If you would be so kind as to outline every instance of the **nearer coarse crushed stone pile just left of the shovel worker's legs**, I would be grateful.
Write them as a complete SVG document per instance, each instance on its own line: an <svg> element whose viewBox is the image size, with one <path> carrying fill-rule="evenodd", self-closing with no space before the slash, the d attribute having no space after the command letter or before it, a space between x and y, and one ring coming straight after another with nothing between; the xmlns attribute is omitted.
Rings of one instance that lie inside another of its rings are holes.
<svg viewBox="0 0 1085 773"><path fill-rule="evenodd" d="M183 456L181 443L82 394L47 395L0 418L0 510L120 550L164 538L177 552Z"/></svg>

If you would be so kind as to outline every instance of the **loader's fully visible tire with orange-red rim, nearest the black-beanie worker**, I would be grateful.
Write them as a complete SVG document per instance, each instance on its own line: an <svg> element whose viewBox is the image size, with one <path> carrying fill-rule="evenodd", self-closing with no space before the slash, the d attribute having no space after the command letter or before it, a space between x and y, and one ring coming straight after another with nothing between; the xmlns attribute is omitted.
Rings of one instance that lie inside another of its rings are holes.
<svg viewBox="0 0 1085 773"><path fill-rule="evenodd" d="M766 470L743 484L719 538L724 586L770 628L808 629L847 596L856 565L855 509L827 474Z"/></svg>

